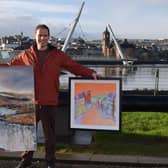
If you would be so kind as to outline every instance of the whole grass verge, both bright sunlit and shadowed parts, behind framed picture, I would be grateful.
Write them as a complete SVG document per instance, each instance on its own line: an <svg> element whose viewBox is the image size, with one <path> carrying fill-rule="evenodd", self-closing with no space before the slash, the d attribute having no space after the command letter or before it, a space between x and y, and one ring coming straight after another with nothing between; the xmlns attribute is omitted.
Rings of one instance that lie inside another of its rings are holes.
<svg viewBox="0 0 168 168"><path fill-rule="evenodd" d="M58 151L168 157L168 113L123 112L121 131L94 131L84 145L58 145Z"/></svg>

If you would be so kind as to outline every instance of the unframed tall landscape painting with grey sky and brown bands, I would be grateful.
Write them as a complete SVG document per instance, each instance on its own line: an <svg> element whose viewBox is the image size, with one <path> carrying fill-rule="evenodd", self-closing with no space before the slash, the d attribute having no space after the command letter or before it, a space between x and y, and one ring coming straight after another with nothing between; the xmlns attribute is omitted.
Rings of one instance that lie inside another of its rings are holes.
<svg viewBox="0 0 168 168"><path fill-rule="evenodd" d="M31 66L0 66L0 149L36 150Z"/></svg>

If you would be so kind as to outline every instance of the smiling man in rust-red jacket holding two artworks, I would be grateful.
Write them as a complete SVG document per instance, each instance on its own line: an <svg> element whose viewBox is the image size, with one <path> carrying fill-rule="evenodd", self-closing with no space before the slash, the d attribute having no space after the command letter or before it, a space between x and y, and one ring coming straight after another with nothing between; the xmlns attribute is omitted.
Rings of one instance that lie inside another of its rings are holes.
<svg viewBox="0 0 168 168"><path fill-rule="evenodd" d="M97 74L68 55L48 44L49 28L40 24L35 29L35 44L21 52L6 65L32 65L35 78L35 104L37 122L41 120L45 136L45 158L47 168L55 168L55 117L59 96L59 76L62 69L75 75L92 77ZM17 168L31 165L33 151L26 151Z"/></svg>

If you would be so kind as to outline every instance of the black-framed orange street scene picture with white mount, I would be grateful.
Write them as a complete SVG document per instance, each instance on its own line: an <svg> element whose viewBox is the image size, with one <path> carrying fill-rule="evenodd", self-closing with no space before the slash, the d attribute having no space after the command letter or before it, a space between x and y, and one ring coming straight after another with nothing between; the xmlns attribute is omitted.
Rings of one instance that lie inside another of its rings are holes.
<svg viewBox="0 0 168 168"><path fill-rule="evenodd" d="M120 78L70 78L70 128L120 130Z"/></svg>

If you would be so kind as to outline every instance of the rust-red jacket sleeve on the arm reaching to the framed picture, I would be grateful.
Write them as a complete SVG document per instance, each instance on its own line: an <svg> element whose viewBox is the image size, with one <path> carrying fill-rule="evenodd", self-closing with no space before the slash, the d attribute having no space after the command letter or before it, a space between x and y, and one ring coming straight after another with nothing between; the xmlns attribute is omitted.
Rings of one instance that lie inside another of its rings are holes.
<svg viewBox="0 0 168 168"><path fill-rule="evenodd" d="M95 73L94 70L89 69L76 61L72 60L70 56L62 53L61 57L63 59L63 68L65 70L70 71L71 73L78 75L78 76L83 76L83 77L92 77L92 74Z"/></svg>

